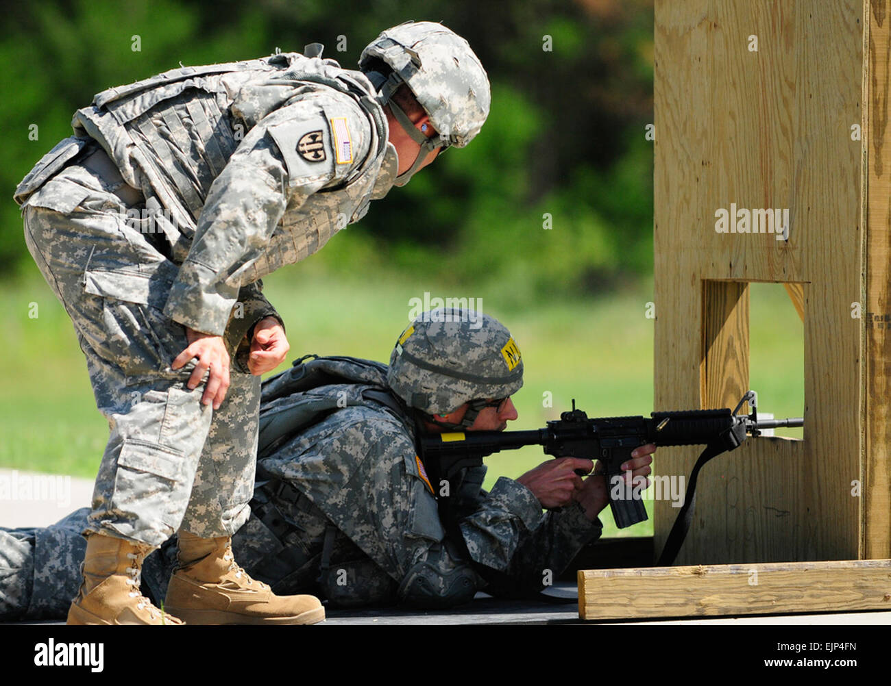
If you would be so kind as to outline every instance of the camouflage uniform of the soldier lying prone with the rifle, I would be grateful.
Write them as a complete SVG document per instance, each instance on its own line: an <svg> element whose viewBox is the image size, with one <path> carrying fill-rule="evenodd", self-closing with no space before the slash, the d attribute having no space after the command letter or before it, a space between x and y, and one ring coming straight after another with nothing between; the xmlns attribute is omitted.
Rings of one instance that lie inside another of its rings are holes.
<svg viewBox="0 0 891 686"><path fill-rule="evenodd" d="M316 593L333 606L447 607L478 590L541 591L546 569L560 574L600 536L600 521L585 519L580 505L543 513L515 480L501 478L486 493L485 466L463 472L443 521L417 458L413 419L389 391L387 371L323 358L264 383L253 512L233 536L252 577L275 593ZM311 375L328 383L295 390ZM279 418L298 407L323 418L289 432ZM64 593L79 583L77 532L86 512L49 529L0 531L0 617L64 613ZM143 593L163 599L175 561L172 539L146 559Z"/></svg>

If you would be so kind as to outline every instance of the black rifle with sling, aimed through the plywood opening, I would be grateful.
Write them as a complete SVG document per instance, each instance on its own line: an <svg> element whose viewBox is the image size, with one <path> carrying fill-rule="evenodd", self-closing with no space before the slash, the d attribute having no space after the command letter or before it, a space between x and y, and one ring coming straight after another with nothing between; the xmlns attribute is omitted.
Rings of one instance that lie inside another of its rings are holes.
<svg viewBox="0 0 891 686"><path fill-rule="evenodd" d="M750 415L738 415L743 403L752 408ZM647 519L640 489L612 488L621 479L621 465L634 448L655 443L665 446L705 445L693 467L683 506L668 536L659 563L671 564L683 544L692 521L699 470L712 457L739 448L748 435L758 436L762 429L778 426L803 426L801 417L758 419L757 395L748 391L734 410L701 409L653 412L650 417L621 416L589 419L576 401L572 410L548 422L544 429L525 432L449 432L429 434L421 439L421 460L433 484L452 480L465 467L482 464L483 457L530 445L540 445L554 457L585 457L600 460L609 491L609 506L616 526L625 529ZM631 491L630 494L628 491ZM630 495L630 497L629 497Z"/></svg>

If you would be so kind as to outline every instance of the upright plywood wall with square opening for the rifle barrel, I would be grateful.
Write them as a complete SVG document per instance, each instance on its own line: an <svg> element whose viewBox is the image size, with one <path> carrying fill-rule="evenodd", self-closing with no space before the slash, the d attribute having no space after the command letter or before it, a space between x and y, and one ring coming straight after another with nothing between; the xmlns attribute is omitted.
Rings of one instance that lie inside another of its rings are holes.
<svg viewBox="0 0 891 686"><path fill-rule="evenodd" d="M748 389L748 282L804 301L805 438L707 465L680 564L891 557L891 323L867 316L891 311L886 5L656 1L655 407ZM788 209L788 239L717 232L732 204ZM698 453L661 448L656 472ZM676 512L656 503L657 551Z"/></svg>

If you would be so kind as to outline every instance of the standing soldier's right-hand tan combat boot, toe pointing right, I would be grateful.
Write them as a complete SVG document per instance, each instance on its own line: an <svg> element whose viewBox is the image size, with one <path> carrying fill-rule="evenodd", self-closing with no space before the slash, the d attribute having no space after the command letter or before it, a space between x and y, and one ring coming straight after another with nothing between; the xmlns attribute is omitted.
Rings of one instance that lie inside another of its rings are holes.
<svg viewBox="0 0 891 686"><path fill-rule="evenodd" d="M325 609L313 595L275 595L232 555L232 538L179 532L179 564L164 607L189 624L315 624Z"/></svg>

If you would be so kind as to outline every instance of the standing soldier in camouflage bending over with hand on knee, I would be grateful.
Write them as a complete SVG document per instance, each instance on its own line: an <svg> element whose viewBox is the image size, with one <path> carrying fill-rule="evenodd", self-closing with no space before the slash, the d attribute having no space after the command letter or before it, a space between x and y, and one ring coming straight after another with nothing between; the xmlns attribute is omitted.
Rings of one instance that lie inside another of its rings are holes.
<svg viewBox="0 0 891 686"><path fill-rule="evenodd" d="M439 149L470 142L490 95L470 46L437 23L384 31L361 71L320 48L99 93L16 190L110 426L69 624L324 618L315 597L276 596L232 556L250 512L260 375L289 348L260 278L315 253ZM177 531L165 616L139 575Z"/></svg>

